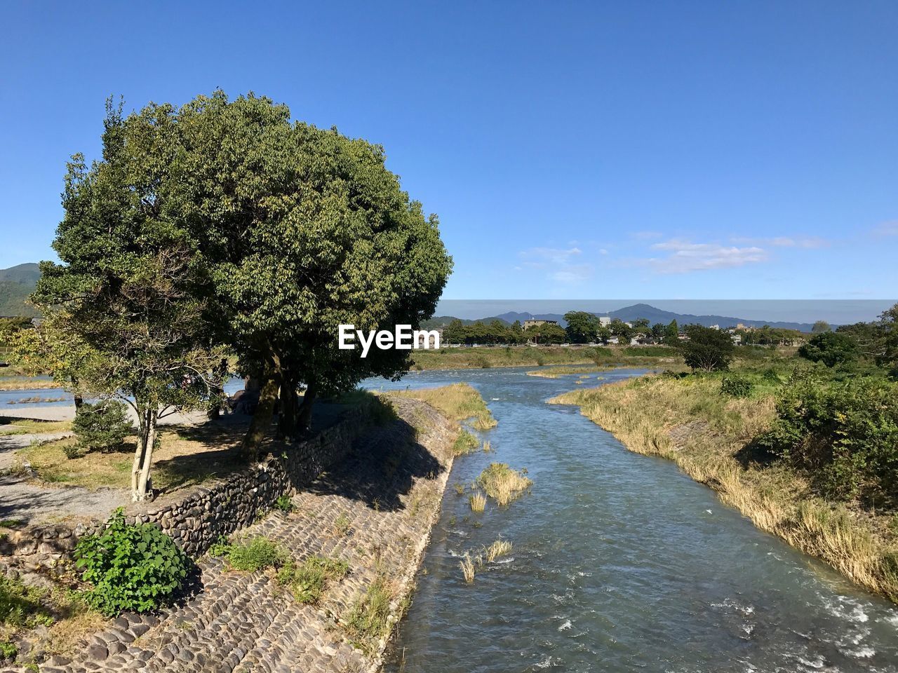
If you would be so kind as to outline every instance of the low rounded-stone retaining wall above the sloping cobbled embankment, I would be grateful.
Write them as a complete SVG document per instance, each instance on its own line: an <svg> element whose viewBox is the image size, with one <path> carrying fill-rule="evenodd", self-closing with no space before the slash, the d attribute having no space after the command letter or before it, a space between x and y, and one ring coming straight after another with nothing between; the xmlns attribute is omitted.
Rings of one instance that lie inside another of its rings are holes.
<svg viewBox="0 0 898 673"><path fill-rule="evenodd" d="M223 481L185 489L172 503L135 507L128 511L128 520L156 523L189 555L203 555L218 538L250 526L279 496L311 483L343 459L365 431L366 420L362 408L353 408L339 423L292 445L282 456ZM16 568L57 574L70 560L77 539L101 529L102 523L61 522L13 530L0 538L0 572Z"/></svg>

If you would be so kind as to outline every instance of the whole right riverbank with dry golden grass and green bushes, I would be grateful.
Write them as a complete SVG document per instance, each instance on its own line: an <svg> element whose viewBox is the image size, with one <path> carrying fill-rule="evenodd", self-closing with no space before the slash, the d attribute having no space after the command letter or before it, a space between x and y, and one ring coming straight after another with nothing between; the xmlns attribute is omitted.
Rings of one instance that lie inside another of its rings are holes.
<svg viewBox="0 0 898 673"><path fill-rule="evenodd" d="M757 351L552 402L580 406L629 450L674 460L759 528L898 602L896 309L867 351L820 335L797 354Z"/></svg>

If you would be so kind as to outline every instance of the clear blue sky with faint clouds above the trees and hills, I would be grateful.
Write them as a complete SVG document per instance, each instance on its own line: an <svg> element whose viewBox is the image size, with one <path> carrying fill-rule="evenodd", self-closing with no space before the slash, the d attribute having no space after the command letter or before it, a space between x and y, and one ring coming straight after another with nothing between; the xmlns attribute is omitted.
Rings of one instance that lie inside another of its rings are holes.
<svg viewBox="0 0 898 673"><path fill-rule="evenodd" d="M379 6L377 6L379 5ZM447 299L894 298L894 2L4 4L0 267L103 101L216 87L383 144Z"/></svg>

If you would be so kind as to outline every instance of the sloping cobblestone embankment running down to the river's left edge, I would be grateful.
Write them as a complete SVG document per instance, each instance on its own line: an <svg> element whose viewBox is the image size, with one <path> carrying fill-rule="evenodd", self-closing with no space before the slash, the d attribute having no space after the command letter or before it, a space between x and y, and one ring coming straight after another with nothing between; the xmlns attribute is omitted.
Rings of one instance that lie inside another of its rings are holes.
<svg viewBox="0 0 898 673"><path fill-rule="evenodd" d="M239 533L276 540L297 562L310 555L345 561L348 574L326 590L318 605L299 603L270 572L234 572L222 560L205 556L198 561L201 588L191 599L157 615L121 616L108 630L93 635L78 659L52 658L40 670L379 669L438 515L456 433L455 424L421 402L396 399L394 404L399 419L370 426L348 442L327 471L293 495L293 512L272 513ZM306 447L305 458L301 454L296 460L314 463L325 444ZM284 472L269 461L264 473L225 489L232 498L230 510L218 511L215 497L207 501L211 494L197 494L189 506L164 510L168 517L156 512L152 518L170 532L183 527L181 543L204 549L212 538L246 523L260 503L268 503L282 487L289 489L285 475L290 459L274 460L286 466ZM348 617L375 584L385 587L390 599L385 628L348 628Z"/></svg>

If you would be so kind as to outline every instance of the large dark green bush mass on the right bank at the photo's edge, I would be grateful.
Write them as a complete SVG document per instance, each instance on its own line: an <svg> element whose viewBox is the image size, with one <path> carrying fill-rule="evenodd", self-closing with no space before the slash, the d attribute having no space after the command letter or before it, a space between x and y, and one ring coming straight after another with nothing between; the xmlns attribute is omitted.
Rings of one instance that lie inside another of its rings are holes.
<svg viewBox="0 0 898 673"><path fill-rule="evenodd" d="M777 400L762 446L814 476L824 494L894 507L898 498L898 385L825 383L797 372Z"/></svg>

